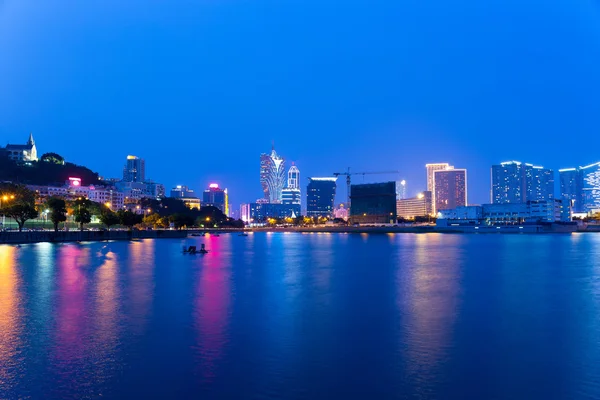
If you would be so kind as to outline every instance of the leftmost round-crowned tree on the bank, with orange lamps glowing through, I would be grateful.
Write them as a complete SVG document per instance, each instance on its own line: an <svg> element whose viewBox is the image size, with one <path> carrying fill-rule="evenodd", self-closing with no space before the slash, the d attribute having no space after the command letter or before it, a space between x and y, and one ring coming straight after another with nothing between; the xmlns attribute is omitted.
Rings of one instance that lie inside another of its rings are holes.
<svg viewBox="0 0 600 400"><path fill-rule="evenodd" d="M25 222L37 218L35 192L27 189L25 186L14 185L12 183L0 185L0 198L2 199L0 215L13 218L17 221L19 232L23 230Z"/></svg>

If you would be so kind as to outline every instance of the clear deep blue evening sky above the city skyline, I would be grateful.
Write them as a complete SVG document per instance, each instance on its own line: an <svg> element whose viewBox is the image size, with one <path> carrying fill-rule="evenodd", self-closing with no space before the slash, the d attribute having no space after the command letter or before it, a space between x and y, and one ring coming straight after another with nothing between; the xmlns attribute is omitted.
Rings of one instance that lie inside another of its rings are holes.
<svg viewBox="0 0 600 400"><path fill-rule="evenodd" d="M493 163L599 161L599 106L593 0L0 0L2 145L107 177L135 154L236 205L272 140L303 182L397 169L365 182L413 195L447 161L487 202Z"/></svg>

